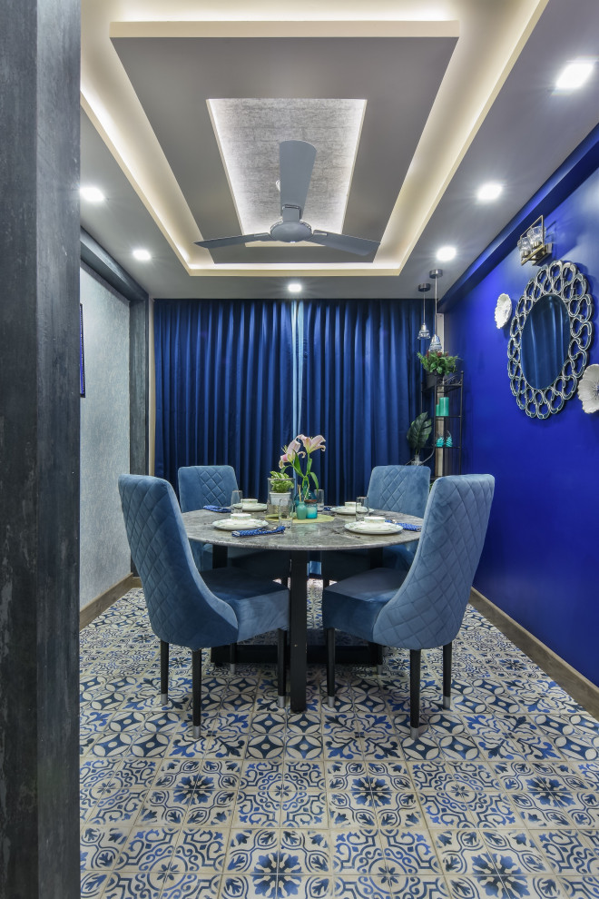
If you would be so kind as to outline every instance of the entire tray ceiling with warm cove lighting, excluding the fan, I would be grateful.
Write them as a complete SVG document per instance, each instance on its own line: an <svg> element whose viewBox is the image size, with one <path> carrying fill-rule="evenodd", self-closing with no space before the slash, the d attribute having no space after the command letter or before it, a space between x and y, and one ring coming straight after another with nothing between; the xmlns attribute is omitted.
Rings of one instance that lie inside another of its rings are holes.
<svg viewBox="0 0 599 899"><path fill-rule="evenodd" d="M313 298L407 298L439 264L442 296L599 122L599 66L553 90L580 56L599 56L597 0L83 0L82 183L107 196L82 200L83 227L154 297L285 297L293 278ZM378 252L194 246L254 231L209 100L232 112L257 221L280 214L279 141L306 140L304 218ZM349 100L365 106L344 146ZM490 180L504 192L477 203ZM447 243L457 256L438 263Z"/></svg>

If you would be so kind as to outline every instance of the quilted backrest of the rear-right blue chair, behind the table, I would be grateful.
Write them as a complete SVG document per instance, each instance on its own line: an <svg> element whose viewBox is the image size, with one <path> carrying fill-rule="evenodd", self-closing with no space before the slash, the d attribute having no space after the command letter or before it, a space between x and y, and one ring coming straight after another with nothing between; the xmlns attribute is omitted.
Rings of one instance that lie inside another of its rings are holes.
<svg viewBox="0 0 599 899"><path fill-rule="evenodd" d="M430 469L427 465L377 465L368 484L372 509L406 512L423 518L427 508Z"/></svg>

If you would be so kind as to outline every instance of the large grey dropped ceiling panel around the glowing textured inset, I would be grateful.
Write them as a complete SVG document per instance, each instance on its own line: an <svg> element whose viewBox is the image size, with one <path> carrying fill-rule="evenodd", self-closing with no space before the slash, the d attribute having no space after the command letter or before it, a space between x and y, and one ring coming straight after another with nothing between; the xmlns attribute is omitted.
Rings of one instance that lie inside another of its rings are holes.
<svg viewBox="0 0 599 899"><path fill-rule="evenodd" d="M193 247L197 240L244 231L203 98L306 101L324 95L324 99L366 101L342 230L381 241L457 37L113 37L112 41L197 223L198 232L190 235L185 248L193 268L194 263L212 260L223 265L362 265L372 258L306 243L253 243L210 253ZM284 130L284 115L283 104L264 104L266 131L251 135L254 153L268 157L274 172L278 148L275 141L273 160L270 135ZM309 125L304 123L301 138L314 144L317 161L320 157L326 165L335 146L329 138L319 145L326 129L318 123L313 138ZM266 184L263 189L268 190ZM309 195L309 203L311 199ZM279 212L275 198L268 225ZM316 216L312 219L306 212L305 218L312 227L323 227Z"/></svg>

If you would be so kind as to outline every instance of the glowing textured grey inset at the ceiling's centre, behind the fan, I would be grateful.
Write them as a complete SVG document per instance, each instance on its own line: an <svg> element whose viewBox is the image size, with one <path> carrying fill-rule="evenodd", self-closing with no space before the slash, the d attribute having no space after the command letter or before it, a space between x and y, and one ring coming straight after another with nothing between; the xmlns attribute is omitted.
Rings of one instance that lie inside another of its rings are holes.
<svg viewBox="0 0 599 899"><path fill-rule="evenodd" d="M318 146L303 218L342 231L366 101L227 98L208 106L244 234L268 232L279 217L281 141Z"/></svg>

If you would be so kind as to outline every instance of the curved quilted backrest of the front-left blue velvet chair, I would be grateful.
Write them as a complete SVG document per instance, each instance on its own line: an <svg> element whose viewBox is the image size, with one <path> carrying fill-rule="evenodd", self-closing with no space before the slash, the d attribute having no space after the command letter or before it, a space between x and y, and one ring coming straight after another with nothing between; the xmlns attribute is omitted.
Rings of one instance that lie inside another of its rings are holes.
<svg viewBox="0 0 599 899"><path fill-rule="evenodd" d="M148 475L121 475L119 492L154 634L192 650L233 643L237 618L201 579L172 486Z"/></svg>

